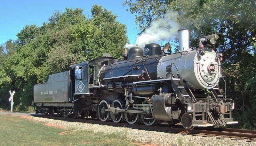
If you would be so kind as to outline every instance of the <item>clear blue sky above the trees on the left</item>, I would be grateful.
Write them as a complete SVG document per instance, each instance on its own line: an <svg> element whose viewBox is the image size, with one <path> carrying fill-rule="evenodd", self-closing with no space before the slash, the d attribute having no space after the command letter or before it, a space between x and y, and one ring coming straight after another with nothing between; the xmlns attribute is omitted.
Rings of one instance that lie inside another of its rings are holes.
<svg viewBox="0 0 256 146"><path fill-rule="evenodd" d="M130 43L134 43L136 35L140 32L135 29L135 16L129 11L126 11L127 6L123 6L123 0L0 0L0 44L3 44L8 39L17 39L16 34L20 32L26 25L36 24L41 26L43 22L48 22L48 17L55 10L63 12L68 8L84 9L84 14L91 16L92 5L99 4L103 8L111 10L116 14L117 21L126 24L127 36Z"/></svg>

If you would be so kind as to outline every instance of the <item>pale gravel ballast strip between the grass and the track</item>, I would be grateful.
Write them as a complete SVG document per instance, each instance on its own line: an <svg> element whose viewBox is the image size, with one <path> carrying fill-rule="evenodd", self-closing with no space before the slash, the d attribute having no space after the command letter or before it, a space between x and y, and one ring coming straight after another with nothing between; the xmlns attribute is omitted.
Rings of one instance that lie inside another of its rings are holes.
<svg viewBox="0 0 256 146"><path fill-rule="evenodd" d="M67 122L60 120L47 119L42 117L32 117L33 120L46 122L67 127L68 129L88 130L93 132L101 132L104 134L120 133L120 137L127 136L136 143L153 143L163 146L254 146L256 142L246 142L246 140L231 140L230 138L216 139L216 137L202 137L186 135L180 133L164 133L156 131L147 131L140 129L132 129L125 127L113 127L107 125Z"/></svg>

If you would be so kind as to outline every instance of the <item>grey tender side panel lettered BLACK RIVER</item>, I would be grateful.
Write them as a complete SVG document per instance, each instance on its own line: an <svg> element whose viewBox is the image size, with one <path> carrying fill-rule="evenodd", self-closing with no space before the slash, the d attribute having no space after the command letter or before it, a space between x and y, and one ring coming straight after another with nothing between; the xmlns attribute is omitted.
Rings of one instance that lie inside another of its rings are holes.
<svg viewBox="0 0 256 146"><path fill-rule="evenodd" d="M70 102L69 71L49 76L47 83L34 86L34 102Z"/></svg>

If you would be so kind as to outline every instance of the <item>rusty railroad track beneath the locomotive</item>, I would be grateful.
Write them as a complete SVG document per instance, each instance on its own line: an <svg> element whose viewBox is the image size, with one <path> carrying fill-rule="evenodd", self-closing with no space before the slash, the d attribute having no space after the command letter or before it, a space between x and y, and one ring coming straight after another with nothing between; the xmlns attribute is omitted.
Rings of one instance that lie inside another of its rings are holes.
<svg viewBox="0 0 256 146"><path fill-rule="evenodd" d="M173 127L159 124L156 126L146 126L141 124L128 124L128 123L115 123L115 122L102 122L99 120L92 120L89 118L64 118L58 116L44 116L45 118L63 120L68 122L84 122L84 123L93 123L100 125L110 125L116 127L129 127L142 130L158 131L165 133L182 133L182 135L193 135L193 136L203 136L211 137L217 136L216 138L231 138L231 140L242 140L247 139L247 142L256 142L256 130L246 130L246 129L230 129L230 128L195 128L195 129L184 129L179 125L174 125Z"/></svg>

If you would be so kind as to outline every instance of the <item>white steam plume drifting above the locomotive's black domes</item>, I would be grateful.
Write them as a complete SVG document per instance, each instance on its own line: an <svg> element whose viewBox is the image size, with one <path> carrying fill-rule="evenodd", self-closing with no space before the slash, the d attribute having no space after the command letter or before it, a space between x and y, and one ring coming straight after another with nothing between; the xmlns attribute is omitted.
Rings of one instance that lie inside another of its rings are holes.
<svg viewBox="0 0 256 146"><path fill-rule="evenodd" d="M177 34L180 29L180 24L177 22L178 13L175 11L167 11L163 18L158 18L152 22L151 26L145 30L140 36L136 36L135 44L144 48L145 44L156 43L162 39L171 39ZM125 48L135 47L135 44L128 44Z"/></svg>

